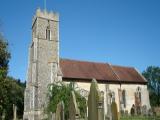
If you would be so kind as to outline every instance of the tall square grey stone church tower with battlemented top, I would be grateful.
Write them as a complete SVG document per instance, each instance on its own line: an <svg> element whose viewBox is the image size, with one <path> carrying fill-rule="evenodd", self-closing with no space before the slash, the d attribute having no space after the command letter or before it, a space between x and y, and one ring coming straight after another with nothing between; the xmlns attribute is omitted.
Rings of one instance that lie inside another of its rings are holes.
<svg viewBox="0 0 160 120"><path fill-rule="evenodd" d="M37 9L32 21L32 41L24 100L24 120L45 117L48 85L58 80L59 15Z"/></svg>

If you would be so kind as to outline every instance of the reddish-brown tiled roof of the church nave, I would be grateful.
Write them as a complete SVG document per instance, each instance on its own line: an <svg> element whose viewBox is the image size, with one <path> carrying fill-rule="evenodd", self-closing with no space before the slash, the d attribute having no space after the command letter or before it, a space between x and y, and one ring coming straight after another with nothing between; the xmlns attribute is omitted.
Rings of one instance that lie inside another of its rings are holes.
<svg viewBox="0 0 160 120"><path fill-rule="evenodd" d="M92 78L95 78L98 82L108 83L146 83L146 80L131 67L61 59L60 68L63 74L63 80L67 81L88 82Z"/></svg>

